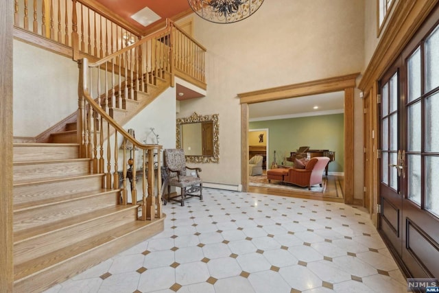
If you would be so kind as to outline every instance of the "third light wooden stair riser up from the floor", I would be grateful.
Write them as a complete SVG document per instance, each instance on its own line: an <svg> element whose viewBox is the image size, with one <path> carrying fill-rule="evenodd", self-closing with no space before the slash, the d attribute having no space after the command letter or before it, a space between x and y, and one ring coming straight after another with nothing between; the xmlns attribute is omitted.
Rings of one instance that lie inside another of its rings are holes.
<svg viewBox="0 0 439 293"><path fill-rule="evenodd" d="M81 217L98 209L114 207L117 204L118 198L119 192L113 191L111 193L78 198L68 202L16 212L14 213L14 233L27 229L44 231L61 228L64 222L60 221Z"/></svg>

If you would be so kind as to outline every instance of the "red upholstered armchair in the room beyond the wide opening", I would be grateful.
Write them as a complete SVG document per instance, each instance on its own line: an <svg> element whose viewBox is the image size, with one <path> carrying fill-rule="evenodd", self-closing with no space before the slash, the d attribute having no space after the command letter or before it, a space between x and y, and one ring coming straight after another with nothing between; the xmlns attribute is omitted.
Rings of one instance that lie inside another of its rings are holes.
<svg viewBox="0 0 439 293"><path fill-rule="evenodd" d="M315 156L305 165L305 169L288 169L288 175L284 176L284 182L308 187L309 190L311 190L312 185L320 184L322 186L324 167L328 163L327 156Z"/></svg>

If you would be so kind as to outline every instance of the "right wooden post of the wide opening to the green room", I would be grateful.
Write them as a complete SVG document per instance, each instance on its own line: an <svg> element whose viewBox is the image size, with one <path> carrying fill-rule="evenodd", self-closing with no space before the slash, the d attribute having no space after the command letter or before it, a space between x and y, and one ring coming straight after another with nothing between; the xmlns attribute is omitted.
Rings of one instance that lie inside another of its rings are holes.
<svg viewBox="0 0 439 293"><path fill-rule="evenodd" d="M344 203L354 203L354 88L344 89Z"/></svg>

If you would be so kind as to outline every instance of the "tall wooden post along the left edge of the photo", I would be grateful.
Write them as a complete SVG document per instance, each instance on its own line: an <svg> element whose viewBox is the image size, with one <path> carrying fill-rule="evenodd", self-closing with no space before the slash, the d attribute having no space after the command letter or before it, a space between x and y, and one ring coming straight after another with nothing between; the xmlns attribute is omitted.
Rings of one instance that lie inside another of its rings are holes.
<svg viewBox="0 0 439 293"><path fill-rule="evenodd" d="M0 291L12 292L14 283L12 234L12 26L14 2L0 1Z"/></svg>

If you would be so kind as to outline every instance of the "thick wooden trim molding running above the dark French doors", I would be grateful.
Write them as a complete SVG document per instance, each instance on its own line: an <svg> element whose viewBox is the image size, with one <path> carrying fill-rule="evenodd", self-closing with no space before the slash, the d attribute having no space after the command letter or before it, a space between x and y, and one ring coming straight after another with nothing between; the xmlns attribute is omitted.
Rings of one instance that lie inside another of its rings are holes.
<svg viewBox="0 0 439 293"><path fill-rule="evenodd" d="M368 91L379 80L439 0L398 1L358 88Z"/></svg>

